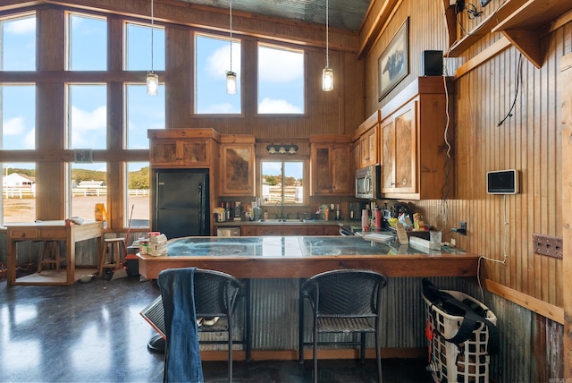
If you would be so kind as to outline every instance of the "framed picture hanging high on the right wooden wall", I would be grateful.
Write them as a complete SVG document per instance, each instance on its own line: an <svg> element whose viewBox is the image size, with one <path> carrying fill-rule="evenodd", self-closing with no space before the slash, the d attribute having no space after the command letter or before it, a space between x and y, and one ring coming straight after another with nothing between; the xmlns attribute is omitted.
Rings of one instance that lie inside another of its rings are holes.
<svg viewBox="0 0 572 383"><path fill-rule="evenodd" d="M377 59L377 69L377 100L381 101L409 73L409 18Z"/></svg>

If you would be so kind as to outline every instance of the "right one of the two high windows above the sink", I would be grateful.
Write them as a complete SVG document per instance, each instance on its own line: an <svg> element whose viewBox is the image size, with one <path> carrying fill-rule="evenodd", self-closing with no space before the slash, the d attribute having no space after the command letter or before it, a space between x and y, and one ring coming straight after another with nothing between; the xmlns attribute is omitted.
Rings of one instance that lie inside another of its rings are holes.
<svg viewBox="0 0 572 383"><path fill-rule="evenodd" d="M304 113L304 51L258 45L258 113Z"/></svg>

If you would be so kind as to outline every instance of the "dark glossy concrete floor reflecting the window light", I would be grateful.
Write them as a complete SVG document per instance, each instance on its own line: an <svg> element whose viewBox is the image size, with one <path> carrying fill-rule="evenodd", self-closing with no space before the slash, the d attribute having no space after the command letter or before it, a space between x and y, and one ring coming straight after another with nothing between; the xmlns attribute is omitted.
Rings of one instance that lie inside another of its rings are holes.
<svg viewBox="0 0 572 383"><path fill-rule="evenodd" d="M160 382L164 357L147 351L156 332L139 315L158 296L138 277L71 286L0 281L0 381ZM431 382L424 360L387 360L384 382ZM226 381L226 362L203 362L206 382ZM375 363L320 361L321 382L374 382ZM309 382L312 362L235 362L236 382Z"/></svg>

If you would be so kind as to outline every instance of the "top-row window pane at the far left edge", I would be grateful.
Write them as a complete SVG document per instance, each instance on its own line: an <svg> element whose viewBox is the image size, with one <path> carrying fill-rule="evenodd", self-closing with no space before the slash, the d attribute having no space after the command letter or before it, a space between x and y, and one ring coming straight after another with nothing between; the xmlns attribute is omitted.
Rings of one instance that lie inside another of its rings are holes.
<svg viewBox="0 0 572 383"><path fill-rule="evenodd" d="M2 71L36 70L36 15L0 19Z"/></svg>

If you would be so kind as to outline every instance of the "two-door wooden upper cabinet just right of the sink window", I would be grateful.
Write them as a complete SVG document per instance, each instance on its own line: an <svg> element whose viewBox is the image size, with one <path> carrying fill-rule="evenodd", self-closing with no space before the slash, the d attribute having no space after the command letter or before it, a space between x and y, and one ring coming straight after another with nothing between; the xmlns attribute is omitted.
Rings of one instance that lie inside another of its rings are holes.
<svg viewBox="0 0 572 383"><path fill-rule="evenodd" d="M349 136L310 137L312 195L351 194L353 178L349 143Z"/></svg>

